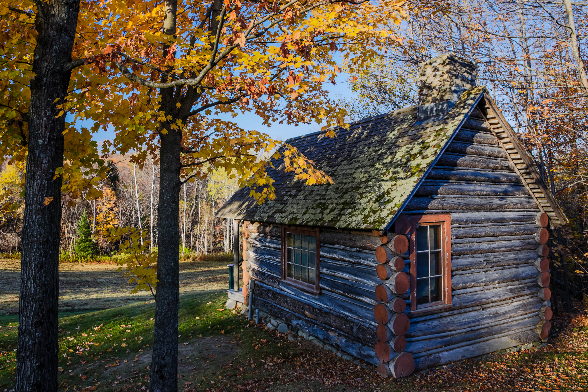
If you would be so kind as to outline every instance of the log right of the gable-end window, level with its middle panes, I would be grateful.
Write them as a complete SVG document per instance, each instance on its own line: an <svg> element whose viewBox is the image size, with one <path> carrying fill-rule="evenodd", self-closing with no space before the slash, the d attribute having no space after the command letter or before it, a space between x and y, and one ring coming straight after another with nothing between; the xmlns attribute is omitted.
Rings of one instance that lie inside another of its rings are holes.
<svg viewBox="0 0 588 392"><path fill-rule="evenodd" d="M525 252L500 252L500 253L480 253L464 254L456 256L452 254L451 269L452 271L463 271L493 267L514 266L518 264L527 264L530 260L537 258L534 249Z"/></svg>

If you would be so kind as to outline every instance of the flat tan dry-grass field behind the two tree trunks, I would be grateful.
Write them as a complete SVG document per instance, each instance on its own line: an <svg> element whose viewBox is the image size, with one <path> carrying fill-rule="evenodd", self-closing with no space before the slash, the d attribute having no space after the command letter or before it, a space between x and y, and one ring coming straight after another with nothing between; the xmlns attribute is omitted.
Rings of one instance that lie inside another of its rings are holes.
<svg viewBox="0 0 588 392"><path fill-rule="evenodd" d="M180 262L180 295L199 294L228 287L226 261ZM131 294L116 264L59 264L59 311L111 309L151 301L151 293ZM0 259L0 314L18 312L20 260Z"/></svg>

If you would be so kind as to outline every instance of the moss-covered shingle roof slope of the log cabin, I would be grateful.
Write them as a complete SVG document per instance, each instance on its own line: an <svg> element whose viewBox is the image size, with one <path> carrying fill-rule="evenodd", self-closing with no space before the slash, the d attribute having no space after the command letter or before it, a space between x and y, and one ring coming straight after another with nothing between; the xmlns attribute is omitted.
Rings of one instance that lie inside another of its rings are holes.
<svg viewBox="0 0 588 392"><path fill-rule="evenodd" d="M306 186L283 172L268 170L276 198L262 205L243 188L216 216L283 225L382 230L409 198L427 169L471 112L484 87L463 93L443 116L418 118L412 106L336 129L336 138L311 133L287 140L334 184Z"/></svg>

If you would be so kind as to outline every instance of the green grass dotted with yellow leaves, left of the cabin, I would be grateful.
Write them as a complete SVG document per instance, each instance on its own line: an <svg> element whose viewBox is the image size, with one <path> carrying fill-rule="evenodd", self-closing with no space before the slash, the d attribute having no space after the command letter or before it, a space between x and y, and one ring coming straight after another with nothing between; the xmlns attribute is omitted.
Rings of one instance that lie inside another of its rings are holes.
<svg viewBox="0 0 588 392"><path fill-rule="evenodd" d="M242 358L279 356L283 351L283 340L276 340L266 331L252 328L245 316L225 309L226 299L223 292L182 297L179 343L194 344L206 337L228 336L234 342L245 343L240 344L238 349ZM154 313L154 301L108 310L60 313L58 366L62 368L59 374L61 387L70 390L73 387L68 378L71 369L77 373L89 363L116 363L150 351L153 346ZM0 347L4 351L0 357L0 388L4 389L14 386L16 353L13 350L17 343L18 315L0 316L0 324ZM216 362L206 365L213 372L222 366ZM104 378L101 374L98 377L88 374L88 381L82 386L91 386L93 378L105 381L101 377ZM76 384L79 387L79 381ZM198 384L204 386L208 381L199 378Z"/></svg>

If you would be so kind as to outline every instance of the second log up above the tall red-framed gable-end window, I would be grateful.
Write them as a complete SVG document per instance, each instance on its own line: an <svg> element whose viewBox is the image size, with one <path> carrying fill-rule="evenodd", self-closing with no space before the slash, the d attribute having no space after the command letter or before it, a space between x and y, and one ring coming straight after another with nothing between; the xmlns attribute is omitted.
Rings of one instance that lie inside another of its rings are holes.
<svg viewBox="0 0 588 392"><path fill-rule="evenodd" d="M442 185L423 184L415 192L415 196L529 196L523 185L491 184L491 183L445 183Z"/></svg>

